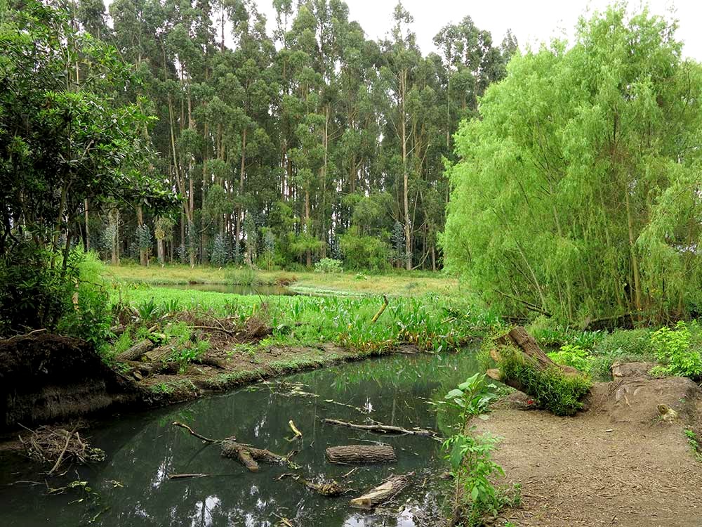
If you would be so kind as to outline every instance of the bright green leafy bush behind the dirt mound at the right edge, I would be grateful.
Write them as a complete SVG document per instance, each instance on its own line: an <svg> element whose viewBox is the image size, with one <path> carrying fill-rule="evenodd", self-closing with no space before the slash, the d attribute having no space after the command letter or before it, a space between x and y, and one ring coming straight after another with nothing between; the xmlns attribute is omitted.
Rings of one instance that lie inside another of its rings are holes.
<svg viewBox="0 0 702 527"><path fill-rule="evenodd" d="M682 322L670 327L661 327L651 335L651 346L656 353L656 359L662 365L656 370L667 375L698 378L702 376L702 354L690 346L691 329L697 330L695 322L690 328Z"/></svg>

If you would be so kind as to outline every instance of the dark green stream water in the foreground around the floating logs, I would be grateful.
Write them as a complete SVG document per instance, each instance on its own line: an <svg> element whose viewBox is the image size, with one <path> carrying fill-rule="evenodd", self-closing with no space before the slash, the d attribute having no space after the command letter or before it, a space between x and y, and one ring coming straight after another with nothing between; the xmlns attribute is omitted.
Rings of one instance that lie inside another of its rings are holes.
<svg viewBox="0 0 702 527"><path fill-rule="evenodd" d="M82 495L76 490L64 495L46 495L44 486L15 481L44 481L37 467L0 458L0 526L273 526L285 516L300 527L428 526L428 520L413 520L411 512L435 514L446 500L446 483L437 475L446 469L440 445L418 436L378 436L322 424L324 417L362 422L372 417L402 427L440 429L446 417L428 405L465 380L475 370L472 351L451 356L395 356L363 363L350 363L324 370L292 375L269 385L202 398L135 415L123 415L91 430L94 446L107 454L105 462L71 469L62 478L49 481L52 487L76 479L88 481L99 500L71 503ZM289 386L319 397L284 396ZM370 412L325 402L333 399ZM232 434L277 453L287 453L288 427L293 419L303 432L302 450L293 459L307 479L322 477L343 480L352 467L324 460L330 445L384 441L395 447L396 464L360 467L350 476L355 492L329 498L307 490L291 479L274 481L290 471L286 467L261 464L251 474L239 463L220 457L218 445L203 445L182 429L171 426L178 420L212 438ZM445 430L444 430L445 433ZM390 474L416 472L414 485L393 501L392 514L366 514L348 506L351 497L376 486ZM169 480L168 474L206 473L201 479Z"/></svg>

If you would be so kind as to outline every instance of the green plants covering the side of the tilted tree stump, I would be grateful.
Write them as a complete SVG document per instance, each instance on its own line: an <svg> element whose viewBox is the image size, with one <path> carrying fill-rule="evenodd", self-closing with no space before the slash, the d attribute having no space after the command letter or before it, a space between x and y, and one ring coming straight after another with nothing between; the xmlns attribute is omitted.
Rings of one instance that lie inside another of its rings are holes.
<svg viewBox="0 0 702 527"><path fill-rule="evenodd" d="M573 415L583 408L581 399L592 382L583 375L565 375L557 367L541 370L536 363L511 347L500 351L503 379L511 379L534 397L536 404L555 415Z"/></svg>

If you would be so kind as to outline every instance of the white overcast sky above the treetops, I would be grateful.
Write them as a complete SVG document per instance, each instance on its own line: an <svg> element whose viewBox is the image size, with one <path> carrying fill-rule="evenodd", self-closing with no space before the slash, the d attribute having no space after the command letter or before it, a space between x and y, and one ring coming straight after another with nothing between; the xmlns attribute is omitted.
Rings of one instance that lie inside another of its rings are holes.
<svg viewBox="0 0 702 527"><path fill-rule="evenodd" d="M275 24L275 11L270 0L256 0L270 27ZM614 0L403 0L414 18L413 30L423 53L435 51L432 39L444 25L460 22L470 15L480 29L489 30L499 44L511 28L524 50L531 44L538 48L552 37L573 40L578 17L588 11L603 11ZM346 0L349 18L357 20L371 39L385 37L392 22L397 0ZM702 1L649 0L629 2L630 8L648 5L649 11L666 18L677 18L680 29L677 39L684 41L684 56L702 61Z"/></svg>

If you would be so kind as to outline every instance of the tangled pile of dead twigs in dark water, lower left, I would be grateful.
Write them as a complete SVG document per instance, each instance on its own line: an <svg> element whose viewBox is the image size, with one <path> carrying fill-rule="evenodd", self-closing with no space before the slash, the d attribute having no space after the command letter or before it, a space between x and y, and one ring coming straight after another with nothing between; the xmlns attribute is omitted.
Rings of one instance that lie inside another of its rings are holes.
<svg viewBox="0 0 702 527"><path fill-rule="evenodd" d="M25 434L24 437L20 434L20 443L32 460L53 463L53 468L48 471L49 475L57 471L63 463L86 464L105 460L105 452L100 448L93 448L75 430L43 426L27 431L29 434Z"/></svg>

